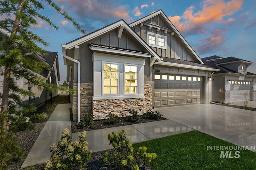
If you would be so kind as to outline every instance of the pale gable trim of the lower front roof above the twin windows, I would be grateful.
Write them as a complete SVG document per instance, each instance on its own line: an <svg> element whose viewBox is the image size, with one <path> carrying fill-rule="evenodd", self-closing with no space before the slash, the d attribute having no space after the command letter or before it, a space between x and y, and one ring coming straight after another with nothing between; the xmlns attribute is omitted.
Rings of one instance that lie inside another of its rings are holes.
<svg viewBox="0 0 256 170"><path fill-rule="evenodd" d="M130 33L130 35L132 35L138 42L140 42L140 44L145 49L147 49L153 57L155 57L158 61L161 61L161 57L159 57L157 55L157 53L145 41L143 41L143 39L140 36L138 36L134 32L134 30L124 20L116 21L116 22L114 22L110 25L107 25L106 27L103 27L102 29L98 29L97 31L94 31L92 33L84 35L83 37L75 39L74 41L70 41L69 43L65 44L65 47L66 47L66 49L72 49L77 45L80 45L82 43L90 41L91 39L94 39L94 38L96 38L100 35L103 35L104 33L108 32L108 31L111 31L113 29L116 29L120 26L123 26L124 29L126 29Z"/></svg>

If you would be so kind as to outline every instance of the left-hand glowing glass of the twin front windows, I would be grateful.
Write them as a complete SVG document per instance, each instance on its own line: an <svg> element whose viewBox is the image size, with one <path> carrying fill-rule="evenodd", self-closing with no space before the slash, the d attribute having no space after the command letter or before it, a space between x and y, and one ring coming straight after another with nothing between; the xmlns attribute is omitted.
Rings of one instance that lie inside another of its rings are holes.
<svg viewBox="0 0 256 170"><path fill-rule="evenodd" d="M118 94L118 64L104 63L103 94Z"/></svg>

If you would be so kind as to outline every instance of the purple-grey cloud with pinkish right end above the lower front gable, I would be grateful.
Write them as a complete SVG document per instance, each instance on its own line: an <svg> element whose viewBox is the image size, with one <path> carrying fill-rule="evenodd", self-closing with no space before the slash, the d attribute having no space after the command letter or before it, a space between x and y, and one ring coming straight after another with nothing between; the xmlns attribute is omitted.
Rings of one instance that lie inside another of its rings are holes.
<svg viewBox="0 0 256 170"><path fill-rule="evenodd" d="M109 23L113 19L124 19L128 23L132 21L129 16L129 6L118 5L115 0L55 0L55 2L64 5L66 12L75 14L81 21L85 18L104 23Z"/></svg>

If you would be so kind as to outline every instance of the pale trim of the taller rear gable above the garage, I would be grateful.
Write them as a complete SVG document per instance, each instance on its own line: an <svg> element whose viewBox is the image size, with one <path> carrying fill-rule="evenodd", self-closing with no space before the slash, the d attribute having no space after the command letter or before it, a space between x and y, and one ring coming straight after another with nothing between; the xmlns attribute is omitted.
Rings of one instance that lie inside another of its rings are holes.
<svg viewBox="0 0 256 170"><path fill-rule="evenodd" d="M204 62L200 59L200 57L196 54L196 52L192 49L192 47L188 44L188 42L184 39L184 37L180 34L180 32L178 31L178 29L176 29L176 27L172 24L172 22L168 19L168 17L164 14L164 12L162 12L162 10L158 10L144 18L141 18L140 20L134 21L133 23L130 23L130 27L133 27L135 25L138 25L144 21L149 20L150 18L153 18L154 16L162 16L162 18L164 18L164 20L166 21L166 23L168 23L168 25L174 30L174 32L178 35L178 37L180 38L180 40L186 45L186 47L188 48L188 50L191 51L191 53L194 55L194 57L201 63L204 64Z"/></svg>

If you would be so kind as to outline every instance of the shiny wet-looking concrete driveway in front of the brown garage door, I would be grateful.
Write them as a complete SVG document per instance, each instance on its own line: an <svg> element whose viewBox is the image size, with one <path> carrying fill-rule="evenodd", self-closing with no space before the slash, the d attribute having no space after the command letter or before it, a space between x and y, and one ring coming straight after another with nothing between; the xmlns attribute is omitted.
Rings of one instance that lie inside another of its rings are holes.
<svg viewBox="0 0 256 170"><path fill-rule="evenodd" d="M155 110L160 111L166 119L224 141L256 147L256 111L215 104L162 107Z"/></svg>

